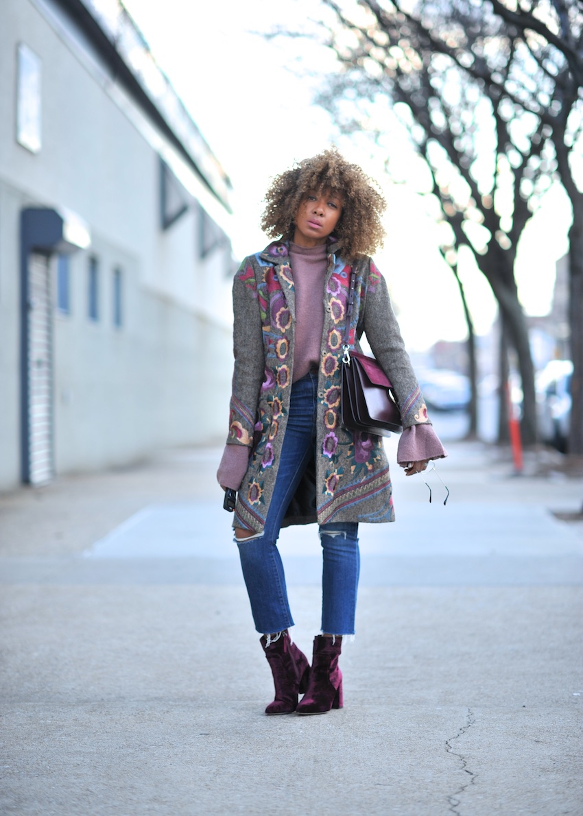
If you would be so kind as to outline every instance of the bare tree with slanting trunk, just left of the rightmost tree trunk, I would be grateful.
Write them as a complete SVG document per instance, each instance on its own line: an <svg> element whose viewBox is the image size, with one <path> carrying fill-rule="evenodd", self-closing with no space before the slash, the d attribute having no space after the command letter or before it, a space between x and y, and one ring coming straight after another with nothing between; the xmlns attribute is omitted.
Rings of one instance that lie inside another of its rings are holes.
<svg viewBox="0 0 583 816"><path fill-rule="evenodd" d="M523 43L492 11L485 16L481 4L463 0L323 5L336 16L327 45L342 70L321 100L338 121L352 116L377 134L391 112L407 126L451 228L444 255L456 264L456 250L469 246L500 305L523 384L523 436L535 441L534 371L514 261L554 157L541 119L501 92L525 72Z"/></svg>

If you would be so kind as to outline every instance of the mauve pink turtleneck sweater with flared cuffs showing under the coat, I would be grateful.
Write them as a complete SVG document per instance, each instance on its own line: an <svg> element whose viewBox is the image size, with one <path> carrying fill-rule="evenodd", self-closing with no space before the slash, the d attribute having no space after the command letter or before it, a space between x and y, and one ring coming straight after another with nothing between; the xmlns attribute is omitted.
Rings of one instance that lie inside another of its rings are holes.
<svg viewBox="0 0 583 816"><path fill-rule="evenodd" d="M293 378L300 379L320 364L324 326L324 281L328 267L327 246L305 247L290 243L291 270L296 293ZM398 441L399 464L446 455L431 425L406 428ZM225 445L216 477L223 487L238 490L249 465L249 448Z"/></svg>

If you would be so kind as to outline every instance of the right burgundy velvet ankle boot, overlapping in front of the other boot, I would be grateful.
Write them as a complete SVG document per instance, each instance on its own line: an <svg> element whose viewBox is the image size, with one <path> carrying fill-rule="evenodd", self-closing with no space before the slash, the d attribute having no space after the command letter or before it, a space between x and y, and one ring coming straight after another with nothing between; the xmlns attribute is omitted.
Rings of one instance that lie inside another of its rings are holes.
<svg viewBox="0 0 583 816"><path fill-rule="evenodd" d="M342 707L342 672L338 668L341 649L341 637L314 637L314 659L309 670L308 690L296 708L298 714L324 714L331 708Z"/></svg>

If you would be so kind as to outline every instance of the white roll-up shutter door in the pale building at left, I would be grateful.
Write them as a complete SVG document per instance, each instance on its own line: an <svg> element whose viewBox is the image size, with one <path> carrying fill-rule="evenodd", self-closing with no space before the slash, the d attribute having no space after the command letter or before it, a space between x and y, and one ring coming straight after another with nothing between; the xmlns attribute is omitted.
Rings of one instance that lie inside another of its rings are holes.
<svg viewBox="0 0 583 816"><path fill-rule="evenodd" d="M53 476L52 436L52 309L46 255L29 255L27 309L28 360L28 481L39 485Z"/></svg>

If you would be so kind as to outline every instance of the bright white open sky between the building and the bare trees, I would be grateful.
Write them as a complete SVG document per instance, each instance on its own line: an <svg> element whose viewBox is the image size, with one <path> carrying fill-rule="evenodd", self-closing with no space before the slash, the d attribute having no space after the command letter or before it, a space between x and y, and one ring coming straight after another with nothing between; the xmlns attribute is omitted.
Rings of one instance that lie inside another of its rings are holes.
<svg viewBox="0 0 583 816"><path fill-rule="evenodd" d="M197 122L234 184L234 251L265 246L257 224L269 179L334 140L326 113L312 104L312 86L291 71L297 60L326 69L325 57L297 40L264 42L254 31L314 13L307 0L124 0L158 64ZM407 348L465 337L457 285L438 255L437 228L407 184L388 186L356 144L345 155L375 175L389 202L388 239L377 262L398 308ZM528 313L549 311L554 264L567 251L571 210L562 188L551 189L518 248L517 278ZM496 305L485 278L461 264L476 330L487 333Z"/></svg>

